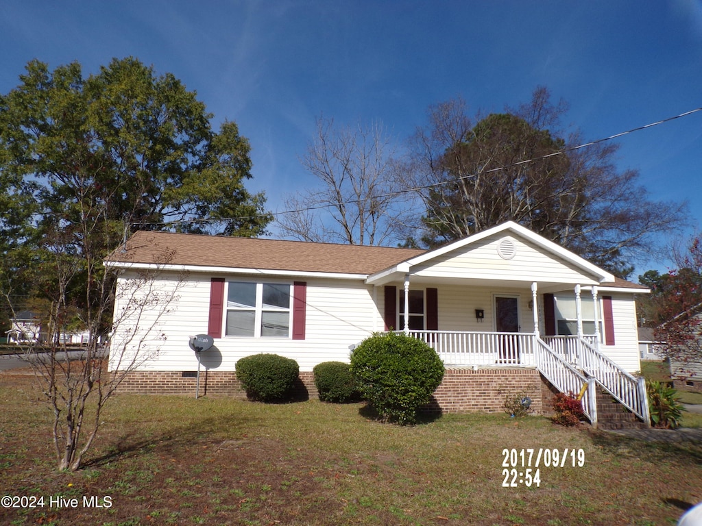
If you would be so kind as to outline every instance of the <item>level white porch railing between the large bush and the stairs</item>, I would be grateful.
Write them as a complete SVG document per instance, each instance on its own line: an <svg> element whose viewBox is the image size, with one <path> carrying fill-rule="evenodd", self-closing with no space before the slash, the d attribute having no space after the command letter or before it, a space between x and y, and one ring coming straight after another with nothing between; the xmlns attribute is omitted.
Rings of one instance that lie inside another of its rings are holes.
<svg viewBox="0 0 702 526"><path fill-rule="evenodd" d="M409 335L432 347L447 365L536 366L531 332L411 330Z"/></svg>

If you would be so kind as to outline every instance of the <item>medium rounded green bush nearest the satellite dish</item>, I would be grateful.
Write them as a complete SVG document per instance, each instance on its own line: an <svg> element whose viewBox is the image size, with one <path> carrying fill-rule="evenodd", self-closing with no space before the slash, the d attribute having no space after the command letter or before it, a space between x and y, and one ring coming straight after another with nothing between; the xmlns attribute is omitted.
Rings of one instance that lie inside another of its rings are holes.
<svg viewBox="0 0 702 526"><path fill-rule="evenodd" d="M252 400L273 402L291 396L300 367L277 354L253 354L237 361L237 379Z"/></svg>

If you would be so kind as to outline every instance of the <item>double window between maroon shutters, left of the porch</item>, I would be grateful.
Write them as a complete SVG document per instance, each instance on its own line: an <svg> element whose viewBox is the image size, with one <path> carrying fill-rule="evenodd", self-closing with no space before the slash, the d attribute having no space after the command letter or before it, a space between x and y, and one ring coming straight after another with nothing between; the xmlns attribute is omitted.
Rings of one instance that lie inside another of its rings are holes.
<svg viewBox="0 0 702 526"><path fill-rule="evenodd" d="M290 285L230 281L227 336L289 337Z"/></svg>

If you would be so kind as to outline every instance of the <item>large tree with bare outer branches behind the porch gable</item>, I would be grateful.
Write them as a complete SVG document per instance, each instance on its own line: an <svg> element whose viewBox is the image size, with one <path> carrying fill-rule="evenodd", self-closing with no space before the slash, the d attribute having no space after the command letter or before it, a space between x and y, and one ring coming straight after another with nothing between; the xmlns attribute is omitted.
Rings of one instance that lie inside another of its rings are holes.
<svg viewBox="0 0 702 526"><path fill-rule="evenodd" d="M529 104L474 122L462 100L432 107L414 137L407 188L425 205L423 243L453 241L513 220L620 276L656 234L682 222L679 205L651 201L633 170L614 166L614 144L565 135L545 88Z"/></svg>

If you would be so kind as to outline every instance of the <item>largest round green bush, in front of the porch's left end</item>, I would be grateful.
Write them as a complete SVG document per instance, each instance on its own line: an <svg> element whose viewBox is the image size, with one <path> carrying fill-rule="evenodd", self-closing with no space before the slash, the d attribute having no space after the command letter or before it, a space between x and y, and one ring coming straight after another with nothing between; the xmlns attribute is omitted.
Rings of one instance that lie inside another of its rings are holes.
<svg viewBox="0 0 702 526"><path fill-rule="evenodd" d="M351 373L381 419L414 424L418 408L429 403L444 378L444 363L424 342L388 332L352 351Z"/></svg>

